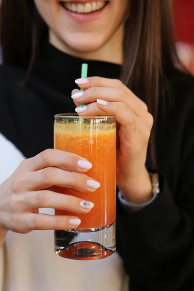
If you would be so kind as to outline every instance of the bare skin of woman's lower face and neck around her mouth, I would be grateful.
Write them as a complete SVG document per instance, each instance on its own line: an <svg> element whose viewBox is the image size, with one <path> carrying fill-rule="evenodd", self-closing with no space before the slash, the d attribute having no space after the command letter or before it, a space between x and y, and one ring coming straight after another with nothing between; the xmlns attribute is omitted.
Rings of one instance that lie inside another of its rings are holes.
<svg viewBox="0 0 194 291"><path fill-rule="evenodd" d="M58 0L34 1L49 26L50 43L56 48L85 59L122 64L123 32L129 0L122 0L122 5L118 0L111 0L98 20L81 24L65 16Z"/></svg>

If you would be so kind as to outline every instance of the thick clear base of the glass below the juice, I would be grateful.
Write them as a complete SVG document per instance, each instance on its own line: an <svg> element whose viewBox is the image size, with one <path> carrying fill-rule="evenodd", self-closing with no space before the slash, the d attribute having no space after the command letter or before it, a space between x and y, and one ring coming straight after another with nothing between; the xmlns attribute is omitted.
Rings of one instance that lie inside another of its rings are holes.
<svg viewBox="0 0 194 291"><path fill-rule="evenodd" d="M104 259L115 250L115 222L103 228L55 230L55 253L65 259Z"/></svg>

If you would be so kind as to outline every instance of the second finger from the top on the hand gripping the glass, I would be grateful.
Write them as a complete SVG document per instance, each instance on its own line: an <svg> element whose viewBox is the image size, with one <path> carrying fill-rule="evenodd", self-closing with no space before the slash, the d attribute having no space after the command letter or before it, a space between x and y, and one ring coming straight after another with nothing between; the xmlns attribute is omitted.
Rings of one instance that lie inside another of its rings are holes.
<svg viewBox="0 0 194 291"><path fill-rule="evenodd" d="M100 183L85 174L49 167L17 178L16 185L12 190L14 193L21 193L27 189L39 191L52 186L73 188L84 193L92 193L100 187Z"/></svg>

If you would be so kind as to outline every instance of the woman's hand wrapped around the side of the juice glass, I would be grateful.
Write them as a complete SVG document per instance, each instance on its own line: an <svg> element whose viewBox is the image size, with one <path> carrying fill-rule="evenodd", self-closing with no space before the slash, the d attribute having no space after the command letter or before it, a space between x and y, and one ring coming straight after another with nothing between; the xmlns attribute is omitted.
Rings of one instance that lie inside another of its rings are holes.
<svg viewBox="0 0 194 291"><path fill-rule="evenodd" d="M39 214L38 209L88 213L94 206L92 202L53 192L52 186L92 193L100 184L84 174L91 167L85 159L56 149L47 149L21 162L0 185L0 225L18 233L78 227L81 221L76 216Z"/></svg>

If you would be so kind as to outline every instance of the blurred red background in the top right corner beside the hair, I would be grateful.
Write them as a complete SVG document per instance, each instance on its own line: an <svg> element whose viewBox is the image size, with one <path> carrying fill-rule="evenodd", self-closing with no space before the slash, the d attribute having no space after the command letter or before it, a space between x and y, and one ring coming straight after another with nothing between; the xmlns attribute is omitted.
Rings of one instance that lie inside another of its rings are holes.
<svg viewBox="0 0 194 291"><path fill-rule="evenodd" d="M194 75L194 0L172 1L178 56ZM0 63L2 63L1 53Z"/></svg>

